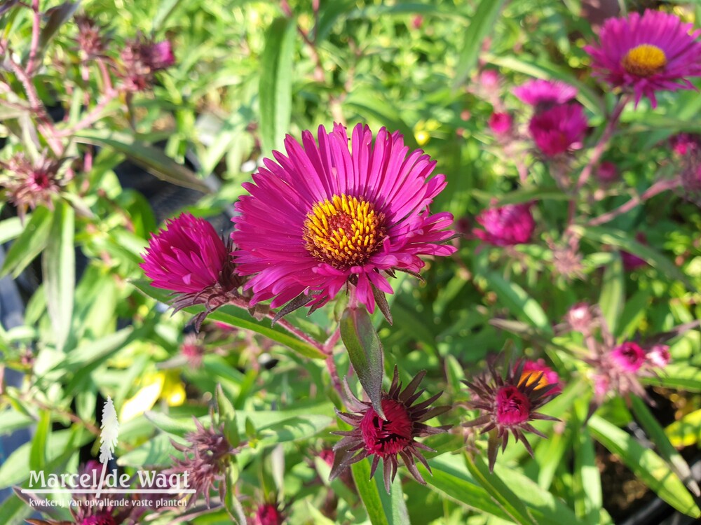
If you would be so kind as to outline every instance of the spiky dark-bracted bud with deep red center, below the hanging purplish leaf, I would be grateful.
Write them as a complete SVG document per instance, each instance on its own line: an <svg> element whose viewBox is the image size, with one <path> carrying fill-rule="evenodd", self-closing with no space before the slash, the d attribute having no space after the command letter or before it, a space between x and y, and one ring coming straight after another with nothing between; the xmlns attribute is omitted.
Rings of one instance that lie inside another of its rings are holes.
<svg viewBox="0 0 701 525"><path fill-rule="evenodd" d="M399 381L399 371L394 370L392 385L387 393L382 394L382 410L387 419L382 419L369 401L361 401L348 391L347 406L354 413L339 412L336 414L342 421L353 426L353 430L340 430L336 435L344 436L334 445L334 465L331 469L330 479L334 479L353 463L367 456L373 456L370 477L375 473L380 460L383 462L385 489L390 491L390 484L397 475L399 466L398 457L402 458L409 472L416 481L426 484L416 468L415 460L431 471L426 458L418 449L435 452L423 443L416 441L416 437L440 434L449 427L432 427L424 424L424 421L443 414L451 409L450 406L433 407L435 400L440 398L439 392L426 401L414 405L414 402L426 391L416 391L426 371L419 372L414 379L402 390ZM398 456L398 457L397 457Z"/></svg>

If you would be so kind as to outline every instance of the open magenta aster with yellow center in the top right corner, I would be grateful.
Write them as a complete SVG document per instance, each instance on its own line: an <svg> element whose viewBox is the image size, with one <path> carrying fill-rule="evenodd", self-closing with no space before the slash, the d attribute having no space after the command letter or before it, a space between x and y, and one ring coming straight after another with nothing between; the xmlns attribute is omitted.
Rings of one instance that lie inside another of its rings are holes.
<svg viewBox="0 0 701 525"><path fill-rule="evenodd" d="M687 80L701 76L701 31L692 31L675 15L646 10L643 15L609 18L599 32L599 45L587 45L594 75L613 87L632 90L635 104L655 92L694 89Z"/></svg>

